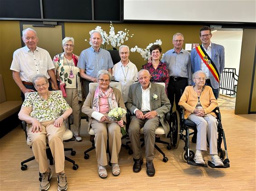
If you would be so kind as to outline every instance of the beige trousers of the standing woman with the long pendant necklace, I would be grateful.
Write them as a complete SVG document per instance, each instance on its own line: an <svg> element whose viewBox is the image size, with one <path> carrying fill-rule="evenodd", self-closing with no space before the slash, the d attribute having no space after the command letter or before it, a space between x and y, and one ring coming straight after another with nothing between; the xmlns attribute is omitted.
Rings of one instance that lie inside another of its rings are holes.
<svg viewBox="0 0 256 191"><path fill-rule="evenodd" d="M74 135L80 135L81 129L81 103L78 101L77 88L66 88L65 100L67 104L73 109L74 124L71 131Z"/></svg>

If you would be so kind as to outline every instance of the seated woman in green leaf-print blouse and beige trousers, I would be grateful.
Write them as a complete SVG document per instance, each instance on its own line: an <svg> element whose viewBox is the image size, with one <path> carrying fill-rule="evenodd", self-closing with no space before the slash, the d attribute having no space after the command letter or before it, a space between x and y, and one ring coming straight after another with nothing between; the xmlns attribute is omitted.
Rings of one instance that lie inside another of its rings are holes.
<svg viewBox="0 0 256 191"><path fill-rule="evenodd" d="M19 119L28 123L28 139L39 164L39 171L42 173L39 188L40 191L47 190L52 178L46 155L47 138L55 161L55 172L58 173L58 190L66 191L65 155L62 142L66 125L63 121L72 113L72 109L58 92L48 91L49 82L45 75L34 76L33 85L37 92L32 92L26 97L19 112Z"/></svg>

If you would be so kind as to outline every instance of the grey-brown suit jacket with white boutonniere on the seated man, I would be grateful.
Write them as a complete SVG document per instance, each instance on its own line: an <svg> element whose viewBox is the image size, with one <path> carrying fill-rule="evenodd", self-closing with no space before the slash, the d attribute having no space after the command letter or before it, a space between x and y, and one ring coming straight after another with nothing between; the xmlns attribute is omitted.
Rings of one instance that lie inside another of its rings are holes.
<svg viewBox="0 0 256 191"><path fill-rule="evenodd" d="M160 117L160 123L164 127L166 136L170 131L169 124L165 120L165 114L170 111L171 104L166 96L166 91L164 86L150 82L150 108L155 110ZM134 109L141 109L142 106L142 86L139 82L134 83L129 88L128 100L126 103L126 108L130 110L131 114L134 115ZM152 95L156 94L158 100L152 100Z"/></svg>

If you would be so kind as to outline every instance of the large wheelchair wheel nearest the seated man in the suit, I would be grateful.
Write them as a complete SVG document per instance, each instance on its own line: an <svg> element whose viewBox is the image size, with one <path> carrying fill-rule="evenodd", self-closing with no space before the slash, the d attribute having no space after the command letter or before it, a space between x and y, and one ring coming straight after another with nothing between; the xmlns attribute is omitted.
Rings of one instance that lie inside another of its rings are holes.
<svg viewBox="0 0 256 191"><path fill-rule="evenodd" d="M177 149L180 142L180 114L178 111L172 113L171 145Z"/></svg>

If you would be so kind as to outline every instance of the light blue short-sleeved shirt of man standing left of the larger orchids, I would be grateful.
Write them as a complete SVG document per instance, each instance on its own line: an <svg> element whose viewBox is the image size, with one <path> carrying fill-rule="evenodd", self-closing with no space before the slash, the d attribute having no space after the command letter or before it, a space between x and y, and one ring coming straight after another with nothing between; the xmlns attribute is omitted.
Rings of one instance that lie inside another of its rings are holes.
<svg viewBox="0 0 256 191"><path fill-rule="evenodd" d="M96 52L92 47L81 52L77 63L77 67L85 69L85 74L91 77L97 77L99 70L108 70L113 66L109 51L100 48Z"/></svg>

